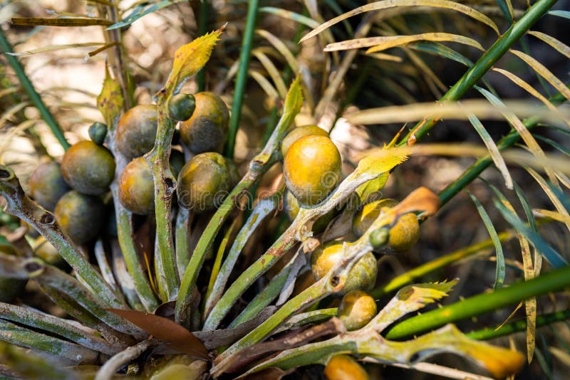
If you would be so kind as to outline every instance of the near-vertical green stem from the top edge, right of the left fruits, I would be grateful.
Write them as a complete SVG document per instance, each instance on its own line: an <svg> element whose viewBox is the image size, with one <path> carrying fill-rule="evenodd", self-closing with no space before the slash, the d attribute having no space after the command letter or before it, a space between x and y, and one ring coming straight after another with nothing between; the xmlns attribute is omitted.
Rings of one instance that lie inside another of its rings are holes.
<svg viewBox="0 0 570 380"><path fill-rule="evenodd" d="M242 51L239 54L239 68L237 70L236 86L234 88L232 117L229 119L226 157L234 157L237 128L239 127L239 117L242 115L242 101L244 99L247 83L247 69L249 68L249 58L252 56L252 41L254 39L258 6L259 0L249 0L244 38L242 39Z"/></svg>

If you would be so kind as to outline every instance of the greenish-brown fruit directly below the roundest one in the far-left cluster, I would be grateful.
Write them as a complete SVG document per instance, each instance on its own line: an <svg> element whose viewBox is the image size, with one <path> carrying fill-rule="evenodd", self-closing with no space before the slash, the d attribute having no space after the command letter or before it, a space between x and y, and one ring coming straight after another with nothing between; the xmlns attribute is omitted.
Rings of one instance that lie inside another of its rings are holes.
<svg viewBox="0 0 570 380"><path fill-rule="evenodd" d="M76 244L95 238L105 221L105 207L97 196L69 191L56 205L56 220L63 233Z"/></svg>

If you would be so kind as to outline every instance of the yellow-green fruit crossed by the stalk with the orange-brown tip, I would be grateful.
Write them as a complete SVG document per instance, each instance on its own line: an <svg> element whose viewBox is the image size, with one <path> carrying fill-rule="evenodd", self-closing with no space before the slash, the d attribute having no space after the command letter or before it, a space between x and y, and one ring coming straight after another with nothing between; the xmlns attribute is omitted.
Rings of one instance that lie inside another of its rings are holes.
<svg viewBox="0 0 570 380"><path fill-rule="evenodd" d="M353 218L353 233L358 237L362 236L381 212L390 210L396 204L398 202L393 199L380 199L380 201L364 205ZM382 240L385 232L382 230L385 228L380 228L371 234L371 244L375 247L384 244ZM388 246L396 251L408 250L418 242L419 238L420 223L418 223L418 218L414 213L406 213L400 216L395 225L390 228Z"/></svg>

